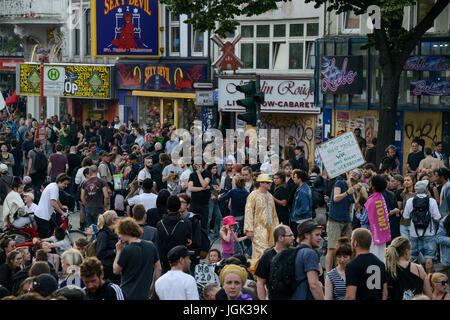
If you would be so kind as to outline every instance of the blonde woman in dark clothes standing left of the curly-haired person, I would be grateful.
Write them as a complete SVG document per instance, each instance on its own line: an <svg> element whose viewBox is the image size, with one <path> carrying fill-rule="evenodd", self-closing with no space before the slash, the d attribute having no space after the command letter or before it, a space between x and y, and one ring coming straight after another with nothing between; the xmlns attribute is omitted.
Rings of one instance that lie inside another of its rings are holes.
<svg viewBox="0 0 450 320"><path fill-rule="evenodd" d="M115 284L120 284L120 276L113 272L113 263L116 257L116 243L119 241L115 233L115 226L119 216L114 210L107 210L98 217L95 255L103 264L105 280L109 279Z"/></svg>

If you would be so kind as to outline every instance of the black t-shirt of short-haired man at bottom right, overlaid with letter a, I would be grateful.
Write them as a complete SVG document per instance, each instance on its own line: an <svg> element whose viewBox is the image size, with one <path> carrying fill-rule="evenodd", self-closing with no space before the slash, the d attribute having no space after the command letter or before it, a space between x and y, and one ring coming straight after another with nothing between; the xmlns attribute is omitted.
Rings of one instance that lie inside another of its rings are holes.
<svg viewBox="0 0 450 320"><path fill-rule="evenodd" d="M356 286L356 300L382 300L387 282L384 263L372 253L360 254L345 268L346 285Z"/></svg>

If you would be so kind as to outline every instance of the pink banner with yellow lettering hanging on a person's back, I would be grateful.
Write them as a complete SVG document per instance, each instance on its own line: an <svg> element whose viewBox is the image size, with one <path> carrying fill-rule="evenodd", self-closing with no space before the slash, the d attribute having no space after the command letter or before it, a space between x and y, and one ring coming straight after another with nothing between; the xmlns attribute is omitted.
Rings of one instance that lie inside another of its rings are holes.
<svg viewBox="0 0 450 320"><path fill-rule="evenodd" d="M370 222L370 231L375 245L391 241L391 228L389 226L389 211L386 201L381 193L375 192L364 204Z"/></svg>

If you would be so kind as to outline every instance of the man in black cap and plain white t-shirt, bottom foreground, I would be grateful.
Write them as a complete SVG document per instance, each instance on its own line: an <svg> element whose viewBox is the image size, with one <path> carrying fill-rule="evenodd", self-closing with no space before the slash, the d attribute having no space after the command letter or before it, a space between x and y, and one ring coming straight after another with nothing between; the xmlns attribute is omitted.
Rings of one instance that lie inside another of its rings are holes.
<svg viewBox="0 0 450 320"><path fill-rule="evenodd" d="M160 300L199 300L197 283L189 274L193 254L194 251L189 251L182 245L168 252L170 271L161 276L155 284L155 291Z"/></svg>

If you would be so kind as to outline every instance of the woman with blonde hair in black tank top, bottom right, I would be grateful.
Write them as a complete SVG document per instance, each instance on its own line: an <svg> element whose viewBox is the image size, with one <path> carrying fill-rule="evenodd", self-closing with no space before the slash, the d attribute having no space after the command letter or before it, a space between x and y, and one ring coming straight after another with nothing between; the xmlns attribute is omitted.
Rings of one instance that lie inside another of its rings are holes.
<svg viewBox="0 0 450 320"><path fill-rule="evenodd" d="M431 298L431 287L422 265L411 262L411 241L397 237L386 248L388 300L412 300L418 294Z"/></svg>

